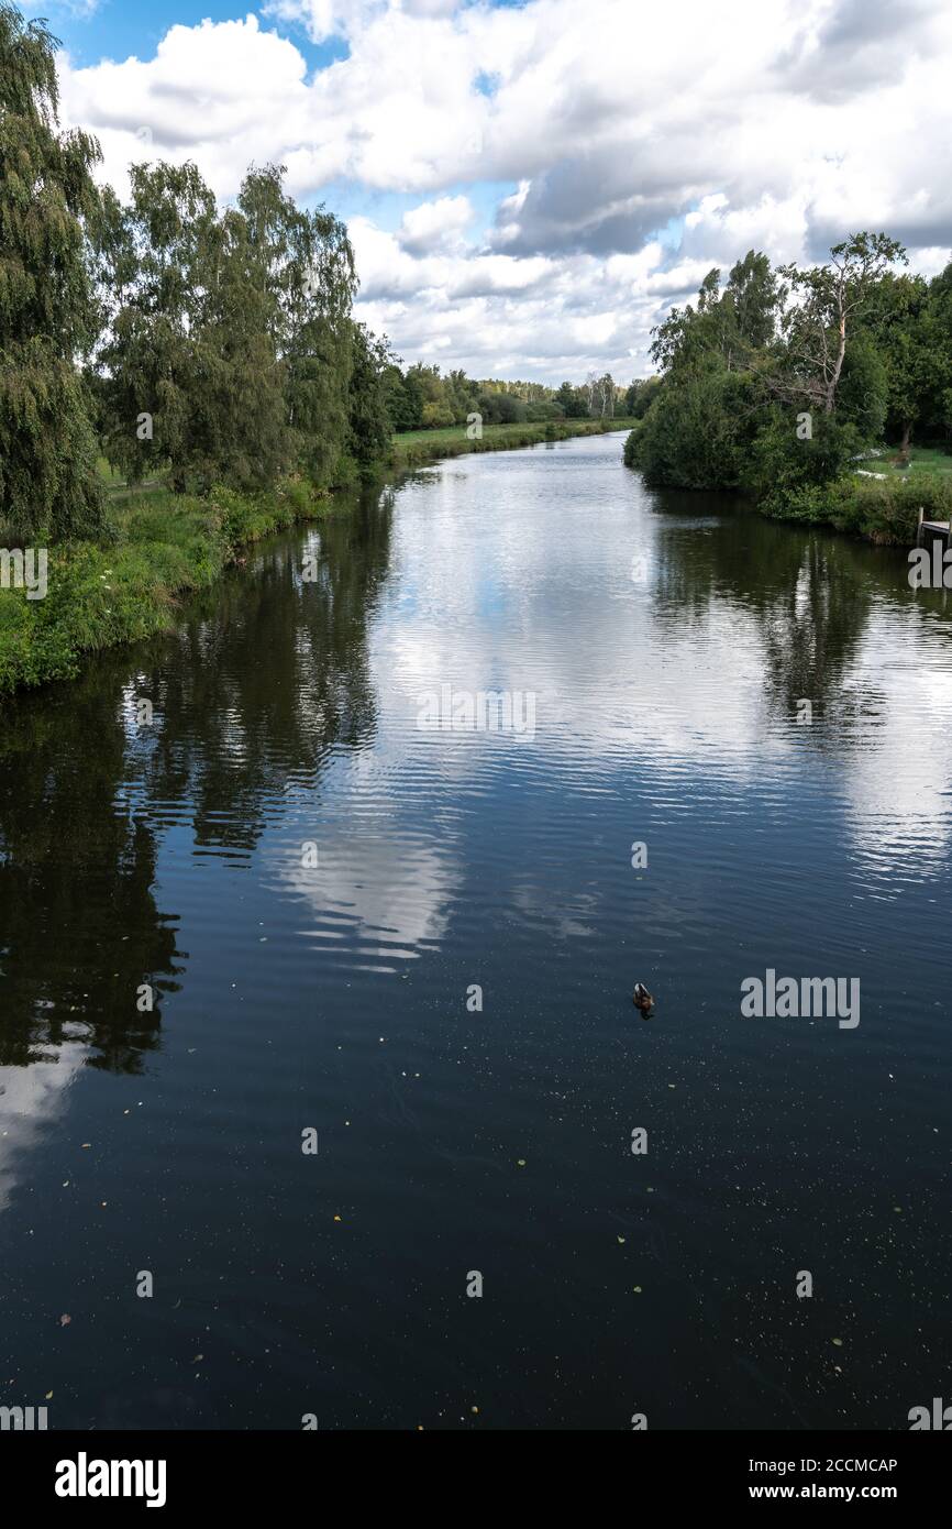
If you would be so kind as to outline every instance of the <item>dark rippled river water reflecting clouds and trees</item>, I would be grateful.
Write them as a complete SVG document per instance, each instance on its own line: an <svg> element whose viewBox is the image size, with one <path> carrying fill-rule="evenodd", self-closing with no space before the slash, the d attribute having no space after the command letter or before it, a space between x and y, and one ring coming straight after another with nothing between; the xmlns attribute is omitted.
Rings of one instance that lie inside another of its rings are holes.
<svg viewBox="0 0 952 1529"><path fill-rule="evenodd" d="M952 1401L952 601L620 448L419 472L0 714L0 1405Z"/></svg>

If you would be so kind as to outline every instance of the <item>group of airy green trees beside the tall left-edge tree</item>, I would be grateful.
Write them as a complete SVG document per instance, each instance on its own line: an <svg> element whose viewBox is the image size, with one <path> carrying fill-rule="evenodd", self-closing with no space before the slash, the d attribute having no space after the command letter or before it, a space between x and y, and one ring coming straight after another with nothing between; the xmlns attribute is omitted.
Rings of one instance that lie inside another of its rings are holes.
<svg viewBox="0 0 952 1529"><path fill-rule="evenodd" d="M134 165L96 242L104 443L130 477L261 489L336 480L348 446L347 229L303 211L283 168L249 170L219 209L193 164Z"/></svg>

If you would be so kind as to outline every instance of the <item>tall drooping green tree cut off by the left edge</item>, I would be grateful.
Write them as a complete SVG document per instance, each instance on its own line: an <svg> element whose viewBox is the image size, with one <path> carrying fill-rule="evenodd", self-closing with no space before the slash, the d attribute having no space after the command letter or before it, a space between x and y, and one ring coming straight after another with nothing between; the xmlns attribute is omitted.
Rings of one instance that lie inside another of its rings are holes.
<svg viewBox="0 0 952 1529"><path fill-rule="evenodd" d="M57 38L0 3L0 523L17 537L102 529L90 399L86 226L99 147L58 124Z"/></svg>

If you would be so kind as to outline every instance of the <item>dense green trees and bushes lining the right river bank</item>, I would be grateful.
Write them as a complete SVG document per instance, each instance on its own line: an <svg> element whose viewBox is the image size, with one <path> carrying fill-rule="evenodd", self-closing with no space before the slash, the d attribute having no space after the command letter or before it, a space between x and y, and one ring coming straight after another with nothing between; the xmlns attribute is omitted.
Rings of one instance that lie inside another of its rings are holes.
<svg viewBox="0 0 952 1529"><path fill-rule="evenodd" d="M808 514L851 463L891 442L952 439L952 265L909 274L885 232L821 265L749 251L652 330L656 379L625 459L654 485L744 489Z"/></svg>

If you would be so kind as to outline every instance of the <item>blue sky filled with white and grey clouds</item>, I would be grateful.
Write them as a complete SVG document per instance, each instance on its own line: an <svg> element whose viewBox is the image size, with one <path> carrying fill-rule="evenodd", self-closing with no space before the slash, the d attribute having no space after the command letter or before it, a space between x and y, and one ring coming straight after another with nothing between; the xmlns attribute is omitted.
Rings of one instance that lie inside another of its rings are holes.
<svg viewBox="0 0 952 1529"><path fill-rule="evenodd" d="M119 193L249 164L350 229L406 361L648 375L651 329L750 248L862 228L950 258L947 0L41 0L63 121Z"/></svg>

